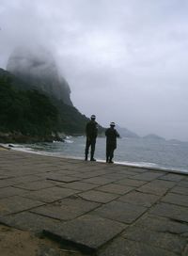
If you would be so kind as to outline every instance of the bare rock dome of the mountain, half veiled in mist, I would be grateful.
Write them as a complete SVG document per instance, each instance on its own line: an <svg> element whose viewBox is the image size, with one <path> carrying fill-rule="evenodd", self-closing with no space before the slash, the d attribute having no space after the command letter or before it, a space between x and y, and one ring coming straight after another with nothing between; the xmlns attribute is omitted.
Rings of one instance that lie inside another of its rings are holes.
<svg viewBox="0 0 188 256"><path fill-rule="evenodd" d="M15 74L27 85L54 97L64 104L71 103L71 88L59 74L54 56L41 46L17 47L8 58L8 72Z"/></svg>

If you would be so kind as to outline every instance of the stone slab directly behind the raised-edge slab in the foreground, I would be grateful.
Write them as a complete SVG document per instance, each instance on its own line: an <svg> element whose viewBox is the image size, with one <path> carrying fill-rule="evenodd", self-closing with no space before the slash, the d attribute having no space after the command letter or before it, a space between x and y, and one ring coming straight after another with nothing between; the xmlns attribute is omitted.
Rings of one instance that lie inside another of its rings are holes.
<svg viewBox="0 0 188 256"><path fill-rule="evenodd" d="M136 218L143 215L146 211L147 208L143 206L121 201L112 201L102 205L92 213L97 216L131 224Z"/></svg>

